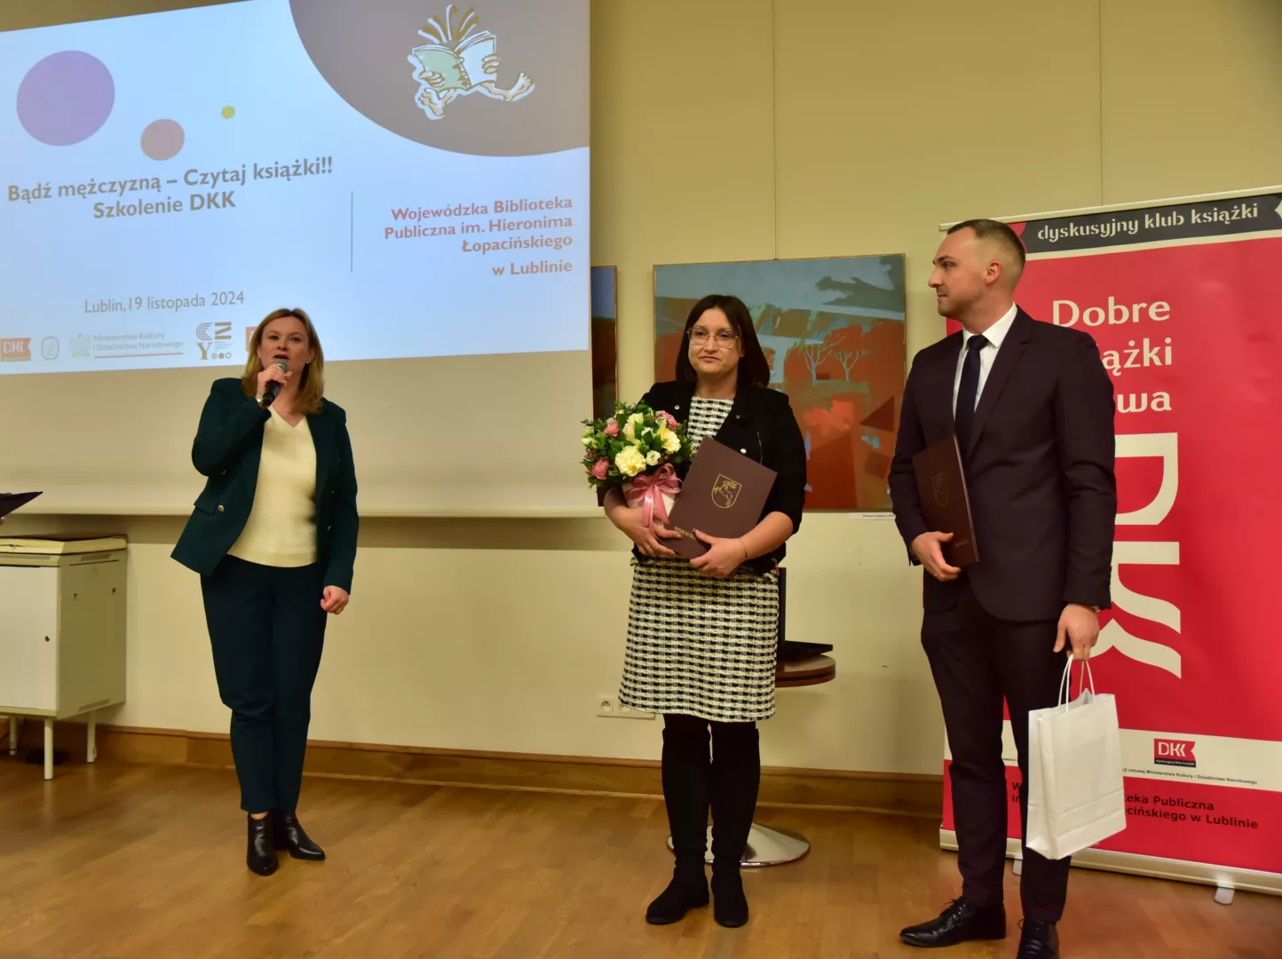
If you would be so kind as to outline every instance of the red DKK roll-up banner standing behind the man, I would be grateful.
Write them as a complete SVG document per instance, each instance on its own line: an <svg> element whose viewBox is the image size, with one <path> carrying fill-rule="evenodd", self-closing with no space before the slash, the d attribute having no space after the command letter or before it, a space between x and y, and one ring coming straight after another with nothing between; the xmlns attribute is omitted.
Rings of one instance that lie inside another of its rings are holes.
<svg viewBox="0 0 1282 959"><path fill-rule="evenodd" d="M1282 892L1282 187L1011 226L1019 305L1095 337L1117 405L1091 663L1117 695L1127 828L1078 862ZM1008 728L1018 838L1014 762Z"/></svg>

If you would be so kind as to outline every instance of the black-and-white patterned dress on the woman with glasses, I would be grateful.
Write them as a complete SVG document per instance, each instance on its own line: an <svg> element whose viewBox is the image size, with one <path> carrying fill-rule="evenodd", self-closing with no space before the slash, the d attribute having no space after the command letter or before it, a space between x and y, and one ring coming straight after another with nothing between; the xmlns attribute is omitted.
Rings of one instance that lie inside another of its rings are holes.
<svg viewBox="0 0 1282 959"><path fill-rule="evenodd" d="M732 400L694 397L694 449L714 436ZM681 556L632 560L628 646L619 701L653 713L715 722L774 714L774 642L779 586L774 572L701 576Z"/></svg>

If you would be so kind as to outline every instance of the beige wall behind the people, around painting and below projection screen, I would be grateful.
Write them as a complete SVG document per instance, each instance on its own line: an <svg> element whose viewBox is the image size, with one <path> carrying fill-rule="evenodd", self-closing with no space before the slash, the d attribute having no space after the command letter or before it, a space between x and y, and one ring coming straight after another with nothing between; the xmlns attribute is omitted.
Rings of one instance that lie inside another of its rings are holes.
<svg viewBox="0 0 1282 959"><path fill-rule="evenodd" d="M626 396L653 378L654 263L905 253L915 351L942 333L924 286L942 221L1282 182L1273 0L594 0L592 14L592 253L619 268ZM131 536L129 703L110 719L226 728L196 578L168 559L178 521L58 522ZM49 521L12 522L35 526ZM628 586L604 521L378 519L360 546L315 737L658 755L656 723L594 715L618 682ZM938 771L919 573L892 523L809 514L790 549L788 633L832 642L838 678L781 694L764 762Z"/></svg>

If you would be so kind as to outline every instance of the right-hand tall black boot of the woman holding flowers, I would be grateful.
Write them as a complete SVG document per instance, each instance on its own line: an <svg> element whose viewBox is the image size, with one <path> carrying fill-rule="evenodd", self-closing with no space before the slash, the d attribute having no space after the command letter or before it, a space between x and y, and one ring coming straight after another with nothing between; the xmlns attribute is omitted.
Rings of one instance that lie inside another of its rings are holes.
<svg viewBox="0 0 1282 959"><path fill-rule="evenodd" d="M713 723L713 915L722 926L747 922L738 869L762 783L759 745L754 723Z"/></svg>

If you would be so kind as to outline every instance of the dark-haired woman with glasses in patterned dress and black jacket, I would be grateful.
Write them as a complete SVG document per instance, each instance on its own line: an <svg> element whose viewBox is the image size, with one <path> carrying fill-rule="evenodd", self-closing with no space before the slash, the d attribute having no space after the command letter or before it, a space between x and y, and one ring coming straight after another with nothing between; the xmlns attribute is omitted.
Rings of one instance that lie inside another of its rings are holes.
<svg viewBox="0 0 1282 959"><path fill-rule="evenodd" d="M710 806L714 918L742 926L740 860L762 774L756 722L774 713L777 563L801 524L806 451L787 396L767 386L770 369L737 297L695 304L676 374L644 401L683 421L696 450L712 436L778 476L756 527L737 538L699 532L710 549L694 560L664 545L679 533L646 527L642 510L629 509L618 490L606 496L606 515L633 542L619 701L664 719L663 797L676 868L646 922L678 922L708 904Z"/></svg>

